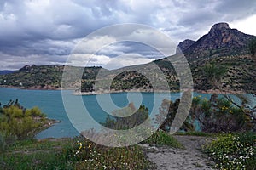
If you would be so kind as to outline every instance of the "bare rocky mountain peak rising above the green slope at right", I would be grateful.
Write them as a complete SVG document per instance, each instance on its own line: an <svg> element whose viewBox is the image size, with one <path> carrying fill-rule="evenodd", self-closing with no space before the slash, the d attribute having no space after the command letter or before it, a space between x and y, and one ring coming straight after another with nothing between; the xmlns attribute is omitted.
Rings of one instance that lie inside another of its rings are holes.
<svg viewBox="0 0 256 170"><path fill-rule="evenodd" d="M218 23L196 42L193 43L191 40L181 42L179 48L189 60L241 55L247 54L247 44L253 38L255 36L231 29L227 23Z"/></svg>

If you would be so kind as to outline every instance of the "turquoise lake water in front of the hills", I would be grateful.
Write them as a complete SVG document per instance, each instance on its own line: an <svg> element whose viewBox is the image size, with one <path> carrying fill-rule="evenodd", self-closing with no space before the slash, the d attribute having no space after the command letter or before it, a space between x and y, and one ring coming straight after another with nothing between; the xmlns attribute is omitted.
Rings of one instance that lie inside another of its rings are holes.
<svg viewBox="0 0 256 170"><path fill-rule="evenodd" d="M102 107L98 105L96 100L96 95L84 95L76 96L73 95L72 91L66 91L67 95L73 99L73 109L76 111L76 99L82 98L84 106L90 112L90 116L96 122L104 122L108 111L103 111ZM124 107L129 104L130 101L138 103L137 94L140 93L119 93L119 94L110 94L113 103L119 107ZM108 94L98 94L101 99L108 97ZM162 99L164 99L164 94L158 93L142 93L141 95L141 104L148 107L149 112L154 111L155 114L158 111ZM202 98L209 99L211 94L199 94L194 93L194 96L201 95ZM172 93L170 99L175 100L180 97L179 93ZM49 118L60 120L60 123L56 123L53 127L44 130L41 133L38 133L38 139L44 138L62 138L62 137L74 137L79 135L79 132L73 127L73 124L70 122L70 115L68 116L61 97L60 90L25 90L25 89L16 89L16 88L0 88L0 102L4 105L9 102L10 99L19 99L20 105L25 106L26 108L32 108L33 106L38 106L41 111L43 111ZM108 99L108 98L106 98ZM108 102L105 102L108 105ZM135 105L138 107L138 105ZM154 107L155 106L155 107ZM110 106L108 109L111 108ZM110 111L113 111L110 109ZM90 120L90 119L87 119ZM90 125L90 122L86 122Z"/></svg>

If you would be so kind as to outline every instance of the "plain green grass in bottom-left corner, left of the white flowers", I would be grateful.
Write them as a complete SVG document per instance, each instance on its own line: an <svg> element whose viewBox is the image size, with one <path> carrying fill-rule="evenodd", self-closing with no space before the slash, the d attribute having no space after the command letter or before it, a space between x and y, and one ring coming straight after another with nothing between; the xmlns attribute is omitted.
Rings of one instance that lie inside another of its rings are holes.
<svg viewBox="0 0 256 170"><path fill-rule="evenodd" d="M65 169L67 160L62 148L69 144L71 139L16 141L0 153L0 169Z"/></svg>

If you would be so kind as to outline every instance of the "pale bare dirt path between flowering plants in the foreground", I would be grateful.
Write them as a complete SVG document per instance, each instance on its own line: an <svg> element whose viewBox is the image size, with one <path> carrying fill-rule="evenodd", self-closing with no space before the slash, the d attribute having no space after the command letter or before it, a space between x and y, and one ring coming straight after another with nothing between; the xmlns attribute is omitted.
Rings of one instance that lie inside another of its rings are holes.
<svg viewBox="0 0 256 170"><path fill-rule="evenodd" d="M182 149L174 149L167 146L153 146L142 144L147 150L148 159L155 164L157 170L169 169L212 169L211 161L201 153L200 148L205 144L207 137L198 136L174 136L183 146Z"/></svg>

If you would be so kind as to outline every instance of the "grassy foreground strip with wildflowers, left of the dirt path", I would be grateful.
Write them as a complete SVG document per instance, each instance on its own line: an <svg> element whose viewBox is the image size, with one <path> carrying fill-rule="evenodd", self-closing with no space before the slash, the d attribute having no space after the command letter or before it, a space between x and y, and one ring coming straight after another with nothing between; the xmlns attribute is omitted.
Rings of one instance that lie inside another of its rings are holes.
<svg viewBox="0 0 256 170"><path fill-rule="evenodd" d="M109 148L87 139L15 142L0 153L0 169L148 169L138 145Z"/></svg>

